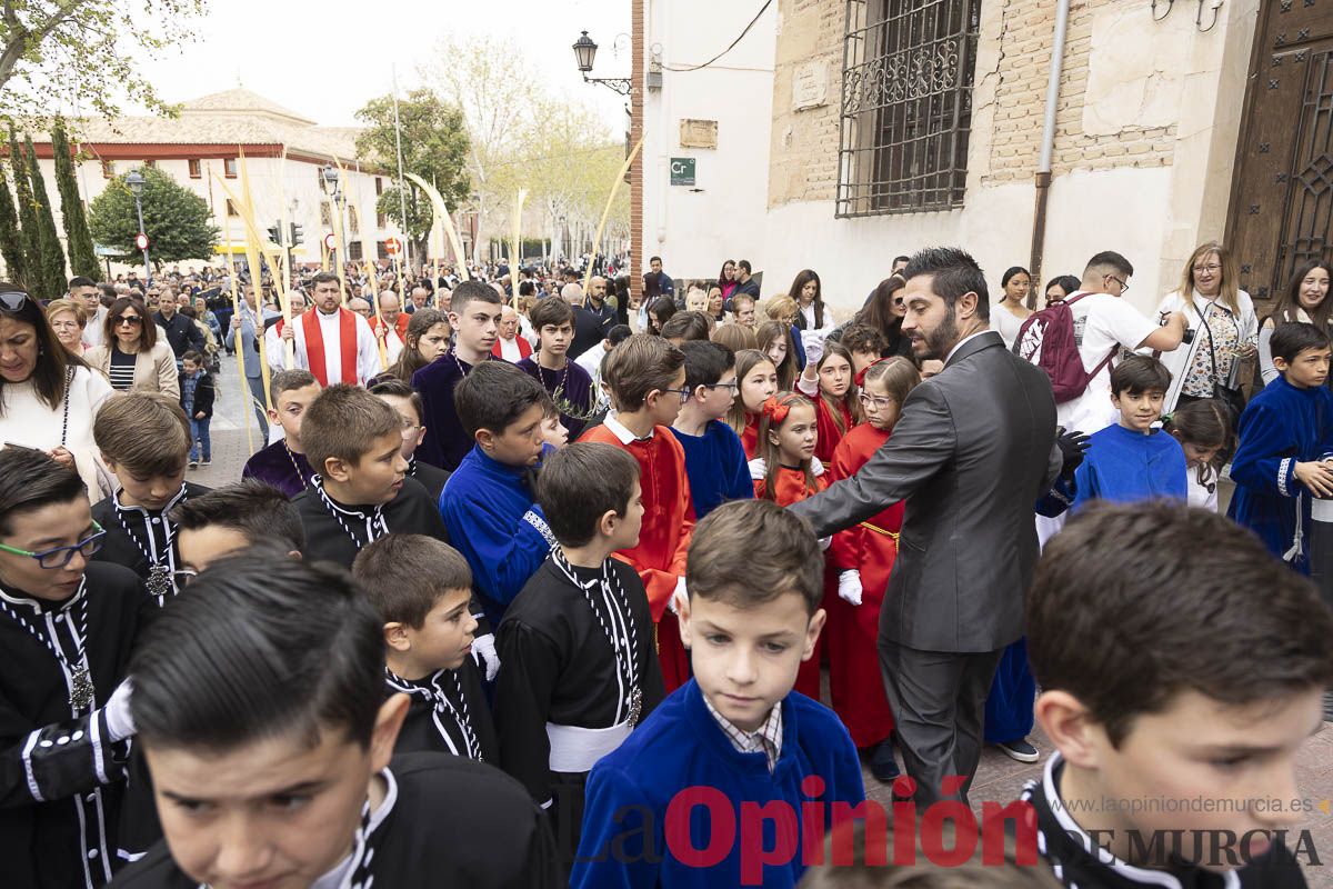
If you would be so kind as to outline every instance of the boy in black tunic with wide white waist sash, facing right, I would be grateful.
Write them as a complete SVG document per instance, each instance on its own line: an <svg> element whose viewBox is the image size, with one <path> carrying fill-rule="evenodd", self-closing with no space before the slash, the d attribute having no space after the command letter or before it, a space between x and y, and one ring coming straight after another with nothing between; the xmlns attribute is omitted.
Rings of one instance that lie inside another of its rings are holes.
<svg viewBox="0 0 1333 889"><path fill-rule="evenodd" d="M639 544L639 464L608 444L547 458L537 500L559 541L500 622L501 764L553 818L567 864L579 848L592 764L665 696L639 574L612 558Z"/></svg>

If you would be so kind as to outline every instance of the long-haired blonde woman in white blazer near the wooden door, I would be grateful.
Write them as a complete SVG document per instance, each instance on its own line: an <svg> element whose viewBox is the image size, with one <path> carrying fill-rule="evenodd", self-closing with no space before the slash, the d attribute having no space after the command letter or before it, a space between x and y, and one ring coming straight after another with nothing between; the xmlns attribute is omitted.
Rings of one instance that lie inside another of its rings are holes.
<svg viewBox="0 0 1333 889"><path fill-rule="evenodd" d="M1157 307L1158 312L1184 312L1193 333L1190 343L1161 356L1172 373L1166 413L1177 404L1212 399L1214 385L1228 383L1236 363L1258 355L1254 303L1237 287L1237 279L1232 255L1217 241L1208 241L1185 263L1180 289Z"/></svg>

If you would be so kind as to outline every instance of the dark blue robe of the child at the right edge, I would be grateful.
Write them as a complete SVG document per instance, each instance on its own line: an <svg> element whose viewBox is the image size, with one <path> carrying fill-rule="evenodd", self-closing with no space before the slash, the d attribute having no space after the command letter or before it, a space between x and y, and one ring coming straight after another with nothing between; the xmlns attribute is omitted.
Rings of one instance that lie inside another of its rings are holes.
<svg viewBox="0 0 1333 889"><path fill-rule="evenodd" d="M1296 464L1333 454L1333 393L1297 389L1278 377L1245 405L1238 436L1226 514L1270 553L1310 573L1310 490L1296 478Z"/></svg>

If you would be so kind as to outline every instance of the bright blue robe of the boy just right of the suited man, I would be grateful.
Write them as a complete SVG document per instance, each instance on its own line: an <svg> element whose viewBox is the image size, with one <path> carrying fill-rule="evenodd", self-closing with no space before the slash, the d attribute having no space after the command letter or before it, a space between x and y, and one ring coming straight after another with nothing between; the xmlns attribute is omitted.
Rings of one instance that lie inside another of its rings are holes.
<svg viewBox="0 0 1333 889"><path fill-rule="evenodd" d="M1161 431L1145 436L1117 424L1088 439L1088 454L1074 472L1073 509L1089 500L1174 497L1184 502L1188 488L1185 452L1176 439Z"/></svg>

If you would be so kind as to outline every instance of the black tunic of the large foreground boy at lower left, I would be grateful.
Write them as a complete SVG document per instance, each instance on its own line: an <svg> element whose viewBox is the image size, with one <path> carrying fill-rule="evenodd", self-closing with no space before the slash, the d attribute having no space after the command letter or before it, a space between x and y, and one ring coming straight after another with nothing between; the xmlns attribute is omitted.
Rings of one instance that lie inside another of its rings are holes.
<svg viewBox="0 0 1333 889"><path fill-rule="evenodd" d="M561 885L545 818L499 769L439 753L393 757L389 792L348 858L325 877L352 889L555 889ZM320 878L321 881L324 877ZM323 885L317 881L317 885ZM116 889L197 889L157 844Z"/></svg>

